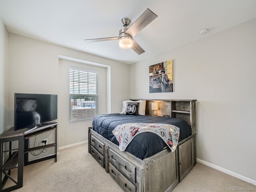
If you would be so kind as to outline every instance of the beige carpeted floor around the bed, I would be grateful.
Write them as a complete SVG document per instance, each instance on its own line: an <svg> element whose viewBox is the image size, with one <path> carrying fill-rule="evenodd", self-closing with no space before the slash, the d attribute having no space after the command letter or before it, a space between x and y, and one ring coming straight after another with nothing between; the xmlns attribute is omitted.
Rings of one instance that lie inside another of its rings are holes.
<svg viewBox="0 0 256 192"><path fill-rule="evenodd" d="M12 171L12 176L17 173ZM8 180L6 186L12 185ZM230 192L230 187L256 186L197 163L173 192ZM58 162L46 160L24 167L19 192L122 192L110 174L88 153L83 144L60 150Z"/></svg>

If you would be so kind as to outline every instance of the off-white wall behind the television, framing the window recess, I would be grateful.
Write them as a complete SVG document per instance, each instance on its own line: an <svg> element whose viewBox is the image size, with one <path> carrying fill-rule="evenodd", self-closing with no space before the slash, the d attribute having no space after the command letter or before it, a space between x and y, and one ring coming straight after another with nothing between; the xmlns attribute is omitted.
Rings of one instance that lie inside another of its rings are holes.
<svg viewBox="0 0 256 192"><path fill-rule="evenodd" d="M111 112L120 112L122 109L122 101L127 100L130 96L130 82L128 64L116 62L110 59L86 54L76 50L71 50L50 43L26 38L16 34L9 34L9 122L8 125L13 126L14 123L14 93L38 93L38 94L59 94L59 56L76 58L83 61L93 62L109 66L111 92ZM122 78L120 78L122 75ZM108 77L109 79L109 77ZM110 108L109 107L109 108ZM104 110L103 110L104 111ZM61 123L60 121L58 121ZM72 126L75 126L72 125ZM72 130L70 126L70 130ZM61 132L61 126L58 127ZM87 140L88 128L84 127L83 138ZM67 134L66 137L70 135ZM44 138L53 138L51 134L38 136L36 145ZM59 138L60 139L60 138ZM48 140L48 142L50 142ZM58 147L74 144L76 140L63 140ZM34 144L34 138L30 144ZM49 149L47 154L53 150ZM47 155L43 154L43 155ZM40 156L38 156L40 157ZM37 158L38 158L37 157ZM35 157L31 157L34 159Z"/></svg>

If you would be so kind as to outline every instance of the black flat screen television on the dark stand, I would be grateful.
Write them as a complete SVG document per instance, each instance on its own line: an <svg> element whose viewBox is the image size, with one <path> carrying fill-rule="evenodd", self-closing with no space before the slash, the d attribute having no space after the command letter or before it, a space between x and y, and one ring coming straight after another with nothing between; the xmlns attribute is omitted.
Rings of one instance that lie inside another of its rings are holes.
<svg viewBox="0 0 256 192"><path fill-rule="evenodd" d="M15 93L14 131L57 119L57 95Z"/></svg>

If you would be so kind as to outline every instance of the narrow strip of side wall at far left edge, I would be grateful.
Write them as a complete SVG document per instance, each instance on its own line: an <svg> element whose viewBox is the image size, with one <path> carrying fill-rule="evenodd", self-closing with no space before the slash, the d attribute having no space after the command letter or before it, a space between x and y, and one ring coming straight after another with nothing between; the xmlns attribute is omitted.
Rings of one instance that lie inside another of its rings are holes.
<svg viewBox="0 0 256 192"><path fill-rule="evenodd" d="M8 128L8 36L0 18L0 134Z"/></svg>

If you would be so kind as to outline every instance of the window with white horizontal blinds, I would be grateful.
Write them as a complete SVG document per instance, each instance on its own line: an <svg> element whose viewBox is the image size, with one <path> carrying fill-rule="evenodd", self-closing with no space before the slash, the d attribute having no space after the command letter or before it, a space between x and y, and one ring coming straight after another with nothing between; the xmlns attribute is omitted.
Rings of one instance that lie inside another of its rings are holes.
<svg viewBox="0 0 256 192"><path fill-rule="evenodd" d="M70 122L91 120L98 114L98 71L69 68Z"/></svg>

